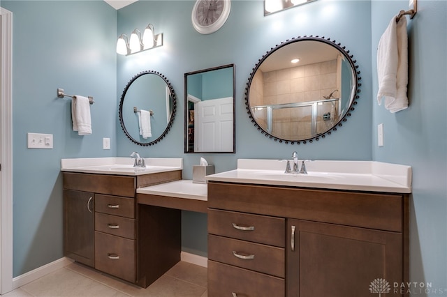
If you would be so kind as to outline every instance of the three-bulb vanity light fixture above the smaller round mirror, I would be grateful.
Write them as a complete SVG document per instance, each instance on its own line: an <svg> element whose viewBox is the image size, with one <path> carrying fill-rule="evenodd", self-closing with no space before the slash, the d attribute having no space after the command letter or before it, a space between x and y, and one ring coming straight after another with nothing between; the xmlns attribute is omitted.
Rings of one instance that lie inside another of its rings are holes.
<svg viewBox="0 0 447 297"><path fill-rule="evenodd" d="M141 32L135 29L128 41L126 34L121 34L117 41L117 54L129 55L150 50L163 45L163 33L155 35L153 24L148 24L141 37Z"/></svg>

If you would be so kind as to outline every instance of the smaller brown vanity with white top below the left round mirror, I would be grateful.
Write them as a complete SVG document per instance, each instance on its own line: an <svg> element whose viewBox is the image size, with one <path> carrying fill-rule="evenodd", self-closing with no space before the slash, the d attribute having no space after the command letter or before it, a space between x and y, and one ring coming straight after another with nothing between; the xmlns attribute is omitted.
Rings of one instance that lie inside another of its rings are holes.
<svg viewBox="0 0 447 297"><path fill-rule="evenodd" d="M175 265L181 250L180 211L140 209L136 190L182 179L182 159L146 161L135 169L129 158L64 159L61 169L64 255L140 287Z"/></svg>

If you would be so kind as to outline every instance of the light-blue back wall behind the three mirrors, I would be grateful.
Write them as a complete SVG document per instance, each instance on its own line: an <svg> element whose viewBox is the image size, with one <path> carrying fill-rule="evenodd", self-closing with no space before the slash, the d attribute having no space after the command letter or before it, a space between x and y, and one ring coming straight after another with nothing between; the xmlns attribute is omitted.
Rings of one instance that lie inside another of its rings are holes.
<svg viewBox="0 0 447 297"><path fill-rule="evenodd" d="M319 0L268 17L263 15L263 1L232 1L226 24L210 35L193 29L190 13L193 4L194 1L138 1L118 11L117 36L129 35L135 28L144 29L151 22L155 33L163 33L165 44L140 54L119 56L117 92L122 91L136 73L156 70L168 77L177 94L177 116L166 138L156 146L140 147L129 142L118 127L118 155L127 156L136 150L152 157L180 156L184 160L183 177L186 179L192 179L192 166L198 165L200 157L214 164L216 172L235 169L237 158L290 158L293 151L298 151L300 158L371 160L369 1ZM245 109L245 88L252 68L265 52L281 41L305 35L336 39L351 51L362 72L361 98L346 125L330 137L300 146L279 144L254 128ZM236 153L185 154L184 73L230 63L234 63L236 69ZM184 213L182 220L182 250L206 256L206 215Z"/></svg>

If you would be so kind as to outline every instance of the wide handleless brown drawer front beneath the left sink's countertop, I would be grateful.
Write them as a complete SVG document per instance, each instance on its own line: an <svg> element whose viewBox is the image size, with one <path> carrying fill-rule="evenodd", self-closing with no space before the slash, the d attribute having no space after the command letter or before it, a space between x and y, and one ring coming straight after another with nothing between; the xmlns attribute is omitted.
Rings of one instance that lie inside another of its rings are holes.
<svg viewBox="0 0 447 297"><path fill-rule="evenodd" d="M135 196L135 178L107 174L64 172L64 189L94 192L99 194Z"/></svg>

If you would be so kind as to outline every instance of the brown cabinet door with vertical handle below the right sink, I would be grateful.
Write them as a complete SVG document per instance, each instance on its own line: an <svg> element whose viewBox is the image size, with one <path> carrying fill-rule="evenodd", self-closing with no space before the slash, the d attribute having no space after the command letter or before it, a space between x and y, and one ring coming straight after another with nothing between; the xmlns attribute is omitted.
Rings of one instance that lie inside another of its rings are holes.
<svg viewBox="0 0 447 297"><path fill-rule="evenodd" d="M403 281L401 233L291 219L287 225L287 296L400 296L393 284Z"/></svg>

